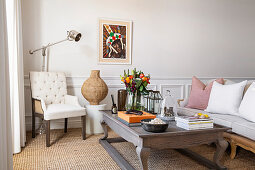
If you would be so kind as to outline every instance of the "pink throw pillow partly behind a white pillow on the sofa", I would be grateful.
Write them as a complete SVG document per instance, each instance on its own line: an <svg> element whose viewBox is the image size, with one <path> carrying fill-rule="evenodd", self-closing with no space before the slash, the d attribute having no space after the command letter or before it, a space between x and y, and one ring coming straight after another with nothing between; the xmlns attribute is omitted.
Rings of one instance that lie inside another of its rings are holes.
<svg viewBox="0 0 255 170"><path fill-rule="evenodd" d="M217 79L215 81L220 84L224 84L223 78ZM197 77L193 76L188 104L185 107L205 110L208 105L213 82L214 81L206 86Z"/></svg>

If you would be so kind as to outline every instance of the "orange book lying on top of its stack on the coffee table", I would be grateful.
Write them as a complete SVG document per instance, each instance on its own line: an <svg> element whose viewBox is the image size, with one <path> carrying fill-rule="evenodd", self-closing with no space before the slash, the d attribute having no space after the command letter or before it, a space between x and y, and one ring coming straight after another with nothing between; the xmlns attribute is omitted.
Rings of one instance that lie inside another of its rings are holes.
<svg viewBox="0 0 255 170"><path fill-rule="evenodd" d="M143 112L143 115L125 114L126 111L119 111L118 117L127 121L128 123L140 123L143 119L154 119L156 115Z"/></svg>

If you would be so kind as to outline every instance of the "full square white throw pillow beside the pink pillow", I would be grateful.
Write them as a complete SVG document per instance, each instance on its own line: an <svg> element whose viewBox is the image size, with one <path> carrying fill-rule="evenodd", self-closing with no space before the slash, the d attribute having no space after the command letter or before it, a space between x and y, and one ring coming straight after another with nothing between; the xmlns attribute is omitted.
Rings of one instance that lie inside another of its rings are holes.
<svg viewBox="0 0 255 170"><path fill-rule="evenodd" d="M246 81L222 85L213 83L206 111L212 113L238 115Z"/></svg>

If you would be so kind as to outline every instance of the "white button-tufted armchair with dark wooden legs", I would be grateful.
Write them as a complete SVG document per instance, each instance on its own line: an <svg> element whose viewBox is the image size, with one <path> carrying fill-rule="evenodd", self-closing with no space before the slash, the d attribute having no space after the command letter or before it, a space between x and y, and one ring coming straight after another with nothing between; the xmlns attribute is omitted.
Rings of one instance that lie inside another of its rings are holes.
<svg viewBox="0 0 255 170"><path fill-rule="evenodd" d="M32 137L35 138L35 117L46 121L46 146L50 146L50 120L81 116L82 138L86 139L86 111L77 96L67 95L66 77L59 72L30 72L32 92Z"/></svg>

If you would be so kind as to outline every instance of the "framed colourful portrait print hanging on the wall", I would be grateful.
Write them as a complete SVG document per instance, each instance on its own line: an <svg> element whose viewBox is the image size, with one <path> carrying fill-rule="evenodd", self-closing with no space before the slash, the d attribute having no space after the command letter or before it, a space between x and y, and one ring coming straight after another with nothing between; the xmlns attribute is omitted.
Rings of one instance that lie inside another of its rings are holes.
<svg viewBox="0 0 255 170"><path fill-rule="evenodd" d="M99 63L131 64L132 22L99 19Z"/></svg>

